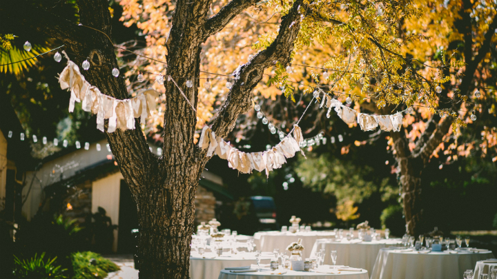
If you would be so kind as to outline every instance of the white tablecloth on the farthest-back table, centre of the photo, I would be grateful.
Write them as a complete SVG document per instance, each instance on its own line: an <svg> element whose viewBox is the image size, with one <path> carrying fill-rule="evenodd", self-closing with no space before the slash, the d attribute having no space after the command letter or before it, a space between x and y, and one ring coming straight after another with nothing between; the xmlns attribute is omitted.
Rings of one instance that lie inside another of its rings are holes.
<svg viewBox="0 0 497 279"><path fill-rule="evenodd" d="M333 231L310 231L310 232L298 232L292 234L291 232L280 232L280 231L260 231L254 234L254 243L257 245L257 249L261 251L270 251L277 248L280 249L280 253L286 251L286 247L290 245L291 242L296 242L299 238L302 238L302 245L304 246L304 251L302 251L302 258L309 258L311 256L311 250L314 245L315 240L320 238L332 238L335 236Z"/></svg>

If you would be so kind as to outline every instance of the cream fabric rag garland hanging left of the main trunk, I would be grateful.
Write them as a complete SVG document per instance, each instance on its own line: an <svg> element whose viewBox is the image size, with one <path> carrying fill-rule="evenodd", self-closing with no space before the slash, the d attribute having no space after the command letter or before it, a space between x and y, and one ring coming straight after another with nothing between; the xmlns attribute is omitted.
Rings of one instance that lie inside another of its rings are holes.
<svg viewBox="0 0 497 279"><path fill-rule="evenodd" d="M68 59L68 65L59 75L62 89L70 90L69 112L73 112L75 103L81 103L85 112L97 114L97 129L104 132L104 120L108 119L107 132L115 130L134 130L135 118L141 118L140 123L146 123L150 111L155 110L155 99L159 92L153 89L141 90L133 99L119 100L90 85L79 72L78 66L69 60L66 52L62 52Z"/></svg>

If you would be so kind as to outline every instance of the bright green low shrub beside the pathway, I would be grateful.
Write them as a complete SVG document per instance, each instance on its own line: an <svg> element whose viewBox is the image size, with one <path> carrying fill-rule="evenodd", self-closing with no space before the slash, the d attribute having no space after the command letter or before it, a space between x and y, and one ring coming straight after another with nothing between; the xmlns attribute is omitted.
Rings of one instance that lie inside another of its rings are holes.
<svg viewBox="0 0 497 279"><path fill-rule="evenodd" d="M74 270L72 279L103 279L108 272L119 270L114 262L91 251L73 253L71 259Z"/></svg>

